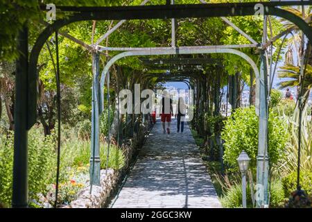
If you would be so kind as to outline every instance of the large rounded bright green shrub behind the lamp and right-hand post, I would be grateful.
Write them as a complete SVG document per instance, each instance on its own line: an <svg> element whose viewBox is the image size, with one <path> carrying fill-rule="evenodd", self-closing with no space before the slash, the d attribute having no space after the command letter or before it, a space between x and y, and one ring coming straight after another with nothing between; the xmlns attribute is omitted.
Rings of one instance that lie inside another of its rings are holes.
<svg viewBox="0 0 312 222"><path fill-rule="evenodd" d="M251 158L250 167L255 167L258 153L259 118L252 108L236 109L225 121L222 138L225 140L223 158L231 167L237 167L237 157L245 150ZM270 163L275 164L284 155L288 138L287 123L281 117L270 114L268 123Z"/></svg>

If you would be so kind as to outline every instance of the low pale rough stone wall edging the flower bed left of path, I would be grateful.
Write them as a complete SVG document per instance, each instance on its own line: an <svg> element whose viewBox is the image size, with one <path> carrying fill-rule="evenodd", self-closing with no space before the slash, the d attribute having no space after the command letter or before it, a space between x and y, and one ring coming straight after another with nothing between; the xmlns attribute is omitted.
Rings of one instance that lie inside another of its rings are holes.
<svg viewBox="0 0 312 222"><path fill-rule="evenodd" d="M92 186L92 194L90 194L90 187L85 187L78 194L78 199L73 200L67 208L101 208L103 207L111 191L119 182L119 171L114 169L101 170L101 187Z"/></svg>

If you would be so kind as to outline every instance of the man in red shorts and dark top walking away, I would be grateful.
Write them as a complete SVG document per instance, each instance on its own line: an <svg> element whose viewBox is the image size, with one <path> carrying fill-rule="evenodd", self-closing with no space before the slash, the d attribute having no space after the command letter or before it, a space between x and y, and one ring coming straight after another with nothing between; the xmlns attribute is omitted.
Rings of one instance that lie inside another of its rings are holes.
<svg viewBox="0 0 312 222"><path fill-rule="evenodd" d="M169 97L168 92L164 90L162 103L160 103L161 110L161 120L162 120L162 128L164 129L164 133L166 133L166 122L168 123L167 133L170 133L170 123L171 123L171 115L173 115L173 107L172 107L172 99Z"/></svg>

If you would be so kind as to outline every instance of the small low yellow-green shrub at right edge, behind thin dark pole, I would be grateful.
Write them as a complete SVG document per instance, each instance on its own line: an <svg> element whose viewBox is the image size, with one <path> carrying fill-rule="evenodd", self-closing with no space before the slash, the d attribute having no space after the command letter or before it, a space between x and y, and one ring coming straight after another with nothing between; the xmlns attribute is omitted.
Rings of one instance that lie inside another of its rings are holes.
<svg viewBox="0 0 312 222"><path fill-rule="evenodd" d="M288 198L297 189L297 172L293 172L282 180L285 197ZM312 172L300 171L300 186L307 195L312 194Z"/></svg>

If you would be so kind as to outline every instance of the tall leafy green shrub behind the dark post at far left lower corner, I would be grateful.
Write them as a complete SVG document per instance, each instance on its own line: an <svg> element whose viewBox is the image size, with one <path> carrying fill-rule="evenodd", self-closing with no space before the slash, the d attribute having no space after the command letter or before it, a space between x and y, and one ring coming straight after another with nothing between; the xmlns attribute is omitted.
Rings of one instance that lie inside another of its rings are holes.
<svg viewBox="0 0 312 222"><path fill-rule="evenodd" d="M33 127L28 133L28 191L29 199L36 199L46 185L55 178L55 139L44 137L41 130ZM11 205L12 167L14 143L9 133L0 136L0 202Z"/></svg>

